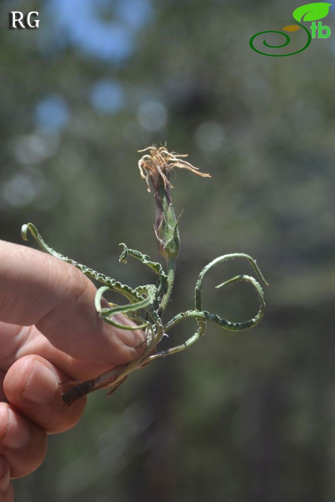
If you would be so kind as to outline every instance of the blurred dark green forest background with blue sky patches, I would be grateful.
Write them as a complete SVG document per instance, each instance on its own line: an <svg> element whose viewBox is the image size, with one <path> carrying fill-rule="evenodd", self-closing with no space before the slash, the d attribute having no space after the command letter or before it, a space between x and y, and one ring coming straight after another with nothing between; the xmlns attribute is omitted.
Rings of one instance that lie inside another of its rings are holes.
<svg viewBox="0 0 335 502"><path fill-rule="evenodd" d="M15 482L17 500L335 500L335 35L287 58L249 47L298 6L2 1L0 237L22 243L32 221L59 252L132 286L152 282L141 264L119 264L118 243L160 259L137 150L167 141L212 179L172 176L184 212L166 319L191 308L216 256L248 253L270 283L256 328L208 326L110 399L89 396L80 423ZM39 29L9 30L11 10L39 11ZM242 261L215 269L204 308L252 317L251 287L213 289L243 272ZM165 345L194 328L179 324Z"/></svg>

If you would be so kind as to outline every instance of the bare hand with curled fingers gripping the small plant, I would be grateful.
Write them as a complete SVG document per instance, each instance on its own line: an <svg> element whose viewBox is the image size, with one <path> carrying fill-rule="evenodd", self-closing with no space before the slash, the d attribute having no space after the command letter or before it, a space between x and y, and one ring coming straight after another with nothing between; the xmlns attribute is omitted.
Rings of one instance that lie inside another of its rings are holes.
<svg viewBox="0 0 335 502"><path fill-rule="evenodd" d="M98 317L95 292L72 265L0 240L0 502L14 500L10 479L43 462L48 435L84 410L86 398L64 405L59 383L91 379L145 348L143 331Z"/></svg>

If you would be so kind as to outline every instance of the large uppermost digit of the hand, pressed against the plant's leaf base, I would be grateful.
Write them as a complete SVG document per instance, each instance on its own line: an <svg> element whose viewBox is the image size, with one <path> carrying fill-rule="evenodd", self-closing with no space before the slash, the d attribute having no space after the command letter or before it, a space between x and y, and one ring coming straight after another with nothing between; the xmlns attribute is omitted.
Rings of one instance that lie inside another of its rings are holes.
<svg viewBox="0 0 335 502"><path fill-rule="evenodd" d="M0 240L0 321L35 326L72 357L121 364L144 349L143 331L123 330L99 318L94 284L73 265ZM120 324L135 326L116 314ZM141 345L142 344L142 345Z"/></svg>

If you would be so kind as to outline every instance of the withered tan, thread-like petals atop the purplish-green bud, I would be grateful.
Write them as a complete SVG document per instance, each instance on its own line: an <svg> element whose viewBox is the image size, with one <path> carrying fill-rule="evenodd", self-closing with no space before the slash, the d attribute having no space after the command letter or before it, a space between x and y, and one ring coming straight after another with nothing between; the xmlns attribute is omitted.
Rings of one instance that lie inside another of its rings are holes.
<svg viewBox="0 0 335 502"><path fill-rule="evenodd" d="M187 154L177 154L177 152L168 152L166 145L164 147L157 148L155 145L147 147L143 150L138 150L138 152L147 152L150 154L145 154L139 160L139 169L141 177L146 180L148 192L150 192L149 178L154 186L157 186L160 179L163 180L164 188L173 188L169 181L169 174L171 169L174 167L179 167L180 169L187 169L198 176L203 178L210 178L208 173L200 173L197 167L192 166L189 162L184 160L182 157L188 157Z"/></svg>

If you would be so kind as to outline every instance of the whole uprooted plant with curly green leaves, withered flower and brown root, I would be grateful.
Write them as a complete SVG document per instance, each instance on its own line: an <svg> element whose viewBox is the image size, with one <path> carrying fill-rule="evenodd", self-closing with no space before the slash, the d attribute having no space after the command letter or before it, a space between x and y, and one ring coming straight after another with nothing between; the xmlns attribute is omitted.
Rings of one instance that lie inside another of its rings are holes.
<svg viewBox="0 0 335 502"><path fill-rule="evenodd" d="M62 397L64 403L67 405L71 405L71 403L75 400L97 389L111 388L109 392L109 394L111 394L125 381L128 374L135 369L143 367L154 359L166 357L167 355L180 352L190 347L204 335L207 321L216 324L220 328L232 331L241 331L243 329L256 326L264 314L265 303L262 287L253 277L248 275L238 275L233 277L232 279L216 286L216 288L221 288L222 286L239 281L251 283L254 286L260 300L260 308L254 318L245 322L230 322L219 315L207 312L202 308L201 290L205 275L213 267L227 260L245 258L253 267L258 278L264 284L267 284L253 258L243 253L234 253L215 258L215 260L206 265L200 272L195 286L194 308L192 310L180 312L167 323L163 323L162 316L171 296L176 271L176 259L180 248L178 230L180 216L177 218L173 209L170 195L170 189L172 188L169 181L170 171L174 168L180 168L186 169L201 177L210 177L210 175L200 173L197 168L184 160L186 155L178 155L175 152L168 152L165 146L159 148L151 146L144 150L140 150L140 152L144 154L139 161L141 177L145 179L147 183L148 192L151 191L150 184L152 185L154 191L156 203L154 230L159 252L166 260L167 270L165 272L160 263L152 262L149 256L134 249L129 249L124 243L120 244L123 247L120 262L127 263L129 257L140 260L144 265L150 267L158 276L156 284L138 286L135 289L125 284L121 284L119 281L100 274L99 272L95 272L94 270L51 249L51 247L44 242L36 227L32 223L25 224L22 227L22 237L24 240L28 240L27 234L29 230L42 249L44 249L47 253L74 265L86 276L103 284L103 286L96 292L95 308L99 316L105 322L122 329L140 328L146 333L145 349L136 360L115 366L103 374L96 376L96 378L86 382L73 382L73 386L66 391ZM103 294L109 290L123 295L126 298L127 303L125 305L115 305L113 303L109 303L108 307L103 307L101 305ZM115 314L120 313L133 320L135 327L117 323L114 316ZM197 329L195 333L181 345L177 345L176 347L172 347L167 350L157 351L156 346L161 341L163 335L180 321L190 317L194 318L197 322Z"/></svg>

